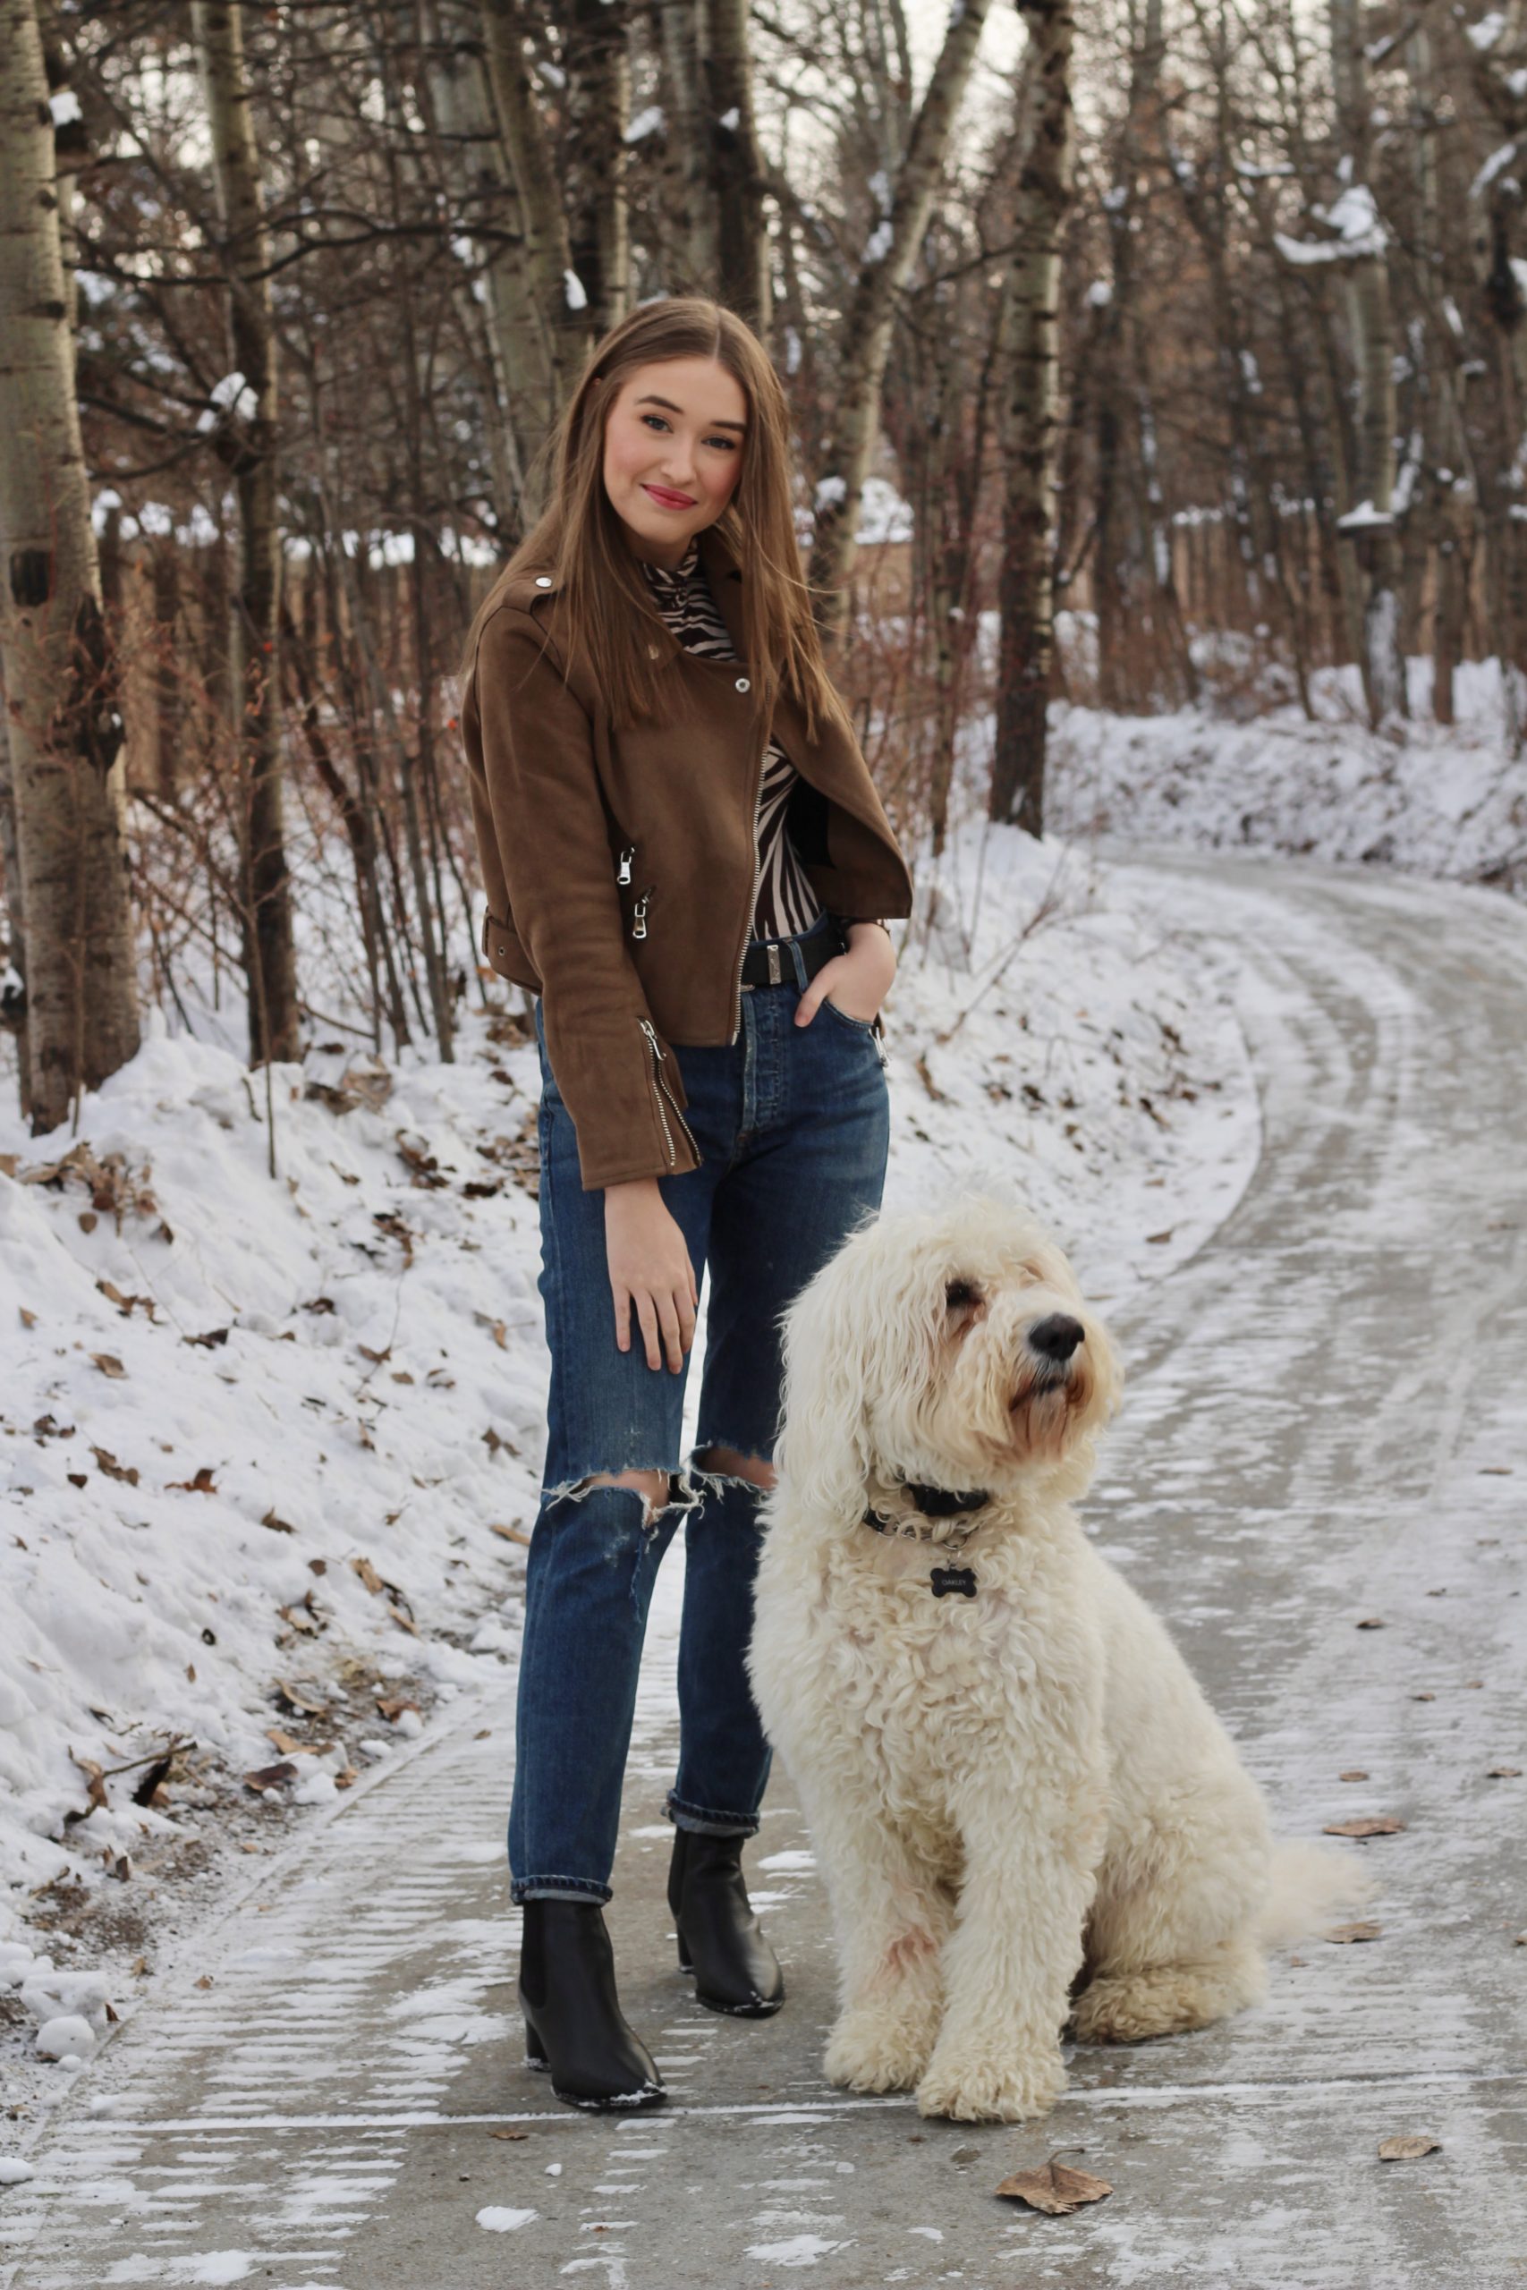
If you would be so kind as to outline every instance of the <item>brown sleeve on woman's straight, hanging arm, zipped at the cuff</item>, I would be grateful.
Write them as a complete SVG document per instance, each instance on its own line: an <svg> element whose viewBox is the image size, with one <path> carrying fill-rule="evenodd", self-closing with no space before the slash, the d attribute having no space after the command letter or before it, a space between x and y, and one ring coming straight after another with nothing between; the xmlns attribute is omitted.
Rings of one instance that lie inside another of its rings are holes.
<svg viewBox="0 0 1527 2290"><path fill-rule="evenodd" d="M474 687L492 838L584 1191L696 1168L678 1060L625 943L593 726L529 611L504 605L488 621Z"/></svg>

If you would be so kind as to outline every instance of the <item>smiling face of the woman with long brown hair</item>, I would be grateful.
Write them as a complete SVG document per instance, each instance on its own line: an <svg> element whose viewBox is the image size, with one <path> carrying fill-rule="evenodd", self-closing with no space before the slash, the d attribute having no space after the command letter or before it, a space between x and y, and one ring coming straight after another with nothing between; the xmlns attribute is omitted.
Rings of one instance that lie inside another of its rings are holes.
<svg viewBox="0 0 1527 2290"><path fill-rule="evenodd" d="M664 357L627 373L604 419L604 492L636 556L680 563L737 488L742 382L714 357Z"/></svg>

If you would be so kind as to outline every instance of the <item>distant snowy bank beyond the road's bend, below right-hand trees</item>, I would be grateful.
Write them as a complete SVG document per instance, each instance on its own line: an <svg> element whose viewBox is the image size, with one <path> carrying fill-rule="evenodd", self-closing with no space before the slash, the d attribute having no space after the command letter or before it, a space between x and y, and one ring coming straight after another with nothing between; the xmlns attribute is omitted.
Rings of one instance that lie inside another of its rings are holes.
<svg viewBox="0 0 1527 2290"><path fill-rule="evenodd" d="M1225 641L1220 639L1220 655ZM1527 889L1527 758L1513 758L1500 671L1465 662L1458 721L1431 721L1431 662L1408 664L1410 724L1376 735L1355 669L1312 678L1316 721L1225 682L1220 703L1117 717L1060 705L1046 818L1115 843L1197 843L1367 861L1415 875Z"/></svg>

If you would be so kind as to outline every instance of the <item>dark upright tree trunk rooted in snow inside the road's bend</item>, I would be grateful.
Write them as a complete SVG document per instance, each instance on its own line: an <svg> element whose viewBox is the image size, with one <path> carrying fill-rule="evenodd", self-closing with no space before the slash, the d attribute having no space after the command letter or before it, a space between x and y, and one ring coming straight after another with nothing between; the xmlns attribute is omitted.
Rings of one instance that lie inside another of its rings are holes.
<svg viewBox="0 0 1527 2290"><path fill-rule="evenodd" d="M1044 834L1044 749L1055 650L1055 451L1060 440L1060 231L1076 174L1071 0L1021 0L1030 144L1007 275L1010 394L1003 502L1003 641L989 815Z"/></svg>

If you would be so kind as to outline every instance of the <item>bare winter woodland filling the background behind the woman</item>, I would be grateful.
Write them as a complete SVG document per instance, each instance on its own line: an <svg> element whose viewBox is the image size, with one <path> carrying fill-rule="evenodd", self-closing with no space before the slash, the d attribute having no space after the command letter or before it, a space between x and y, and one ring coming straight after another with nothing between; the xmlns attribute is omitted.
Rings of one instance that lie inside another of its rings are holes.
<svg viewBox="0 0 1527 2290"><path fill-rule="evenodd" d="M1520 0L0 0L0 1017L451 1056L462 632L602 327L769 339L909 850L1055 703L1527 726ZM1060 627L1060 641L1055 630ZM1426 673L1417 676L1417 662Z"/></svg>

